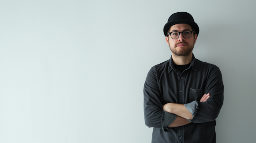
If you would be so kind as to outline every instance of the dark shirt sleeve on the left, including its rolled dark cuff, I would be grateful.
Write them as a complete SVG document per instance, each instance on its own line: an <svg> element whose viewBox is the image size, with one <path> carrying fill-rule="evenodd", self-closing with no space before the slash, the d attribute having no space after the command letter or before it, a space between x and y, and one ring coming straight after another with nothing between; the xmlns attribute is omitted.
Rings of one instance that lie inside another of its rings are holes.
<svg viewBox="0 0 256 143"><path fill-rule="evenodd" d="M156 74L154 68L151 68L144 84L145 124L148 127L156 127L163 129L163 131L169 131L167 126L177 118L177 115L164 112L162 110L161 99L162 96L160 94Z"/></svg>

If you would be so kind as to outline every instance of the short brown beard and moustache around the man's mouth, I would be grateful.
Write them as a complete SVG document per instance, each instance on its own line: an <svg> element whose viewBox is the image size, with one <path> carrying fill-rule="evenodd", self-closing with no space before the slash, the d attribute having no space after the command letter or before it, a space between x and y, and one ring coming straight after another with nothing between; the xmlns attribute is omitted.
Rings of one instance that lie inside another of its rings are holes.
<svg viewBox="0 0 256 143"><path fill-rule="evenodd" d="M186 44L186 46L188 46L188 48L181 48L180 50L177 50L177 46L179 44ZM187 42L179 42L179 43L176 43L174 45L174 47L171 47L170 46L170 49L172 51L172 53L174 53L174 55L177 55L177 56L189 56L191 51L193 50L194 48L194 44L195 44L195 41L193 43L193 45L189 45ZM170 45L170 44L169 44Z"/></svg>

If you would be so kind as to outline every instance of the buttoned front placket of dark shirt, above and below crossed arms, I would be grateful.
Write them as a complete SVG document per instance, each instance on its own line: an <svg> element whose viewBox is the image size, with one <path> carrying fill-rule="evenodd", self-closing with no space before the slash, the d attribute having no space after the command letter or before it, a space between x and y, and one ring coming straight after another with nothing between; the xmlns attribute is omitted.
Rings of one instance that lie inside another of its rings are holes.
<svg viewBox="0 0 256 143"><path fill-rule="evenodd" d="M182 72L179 77L179 104L184 104L184 79L186 76L186 71ZM184 125L178 127L177 133L178 143L184 143Z"/></svg>

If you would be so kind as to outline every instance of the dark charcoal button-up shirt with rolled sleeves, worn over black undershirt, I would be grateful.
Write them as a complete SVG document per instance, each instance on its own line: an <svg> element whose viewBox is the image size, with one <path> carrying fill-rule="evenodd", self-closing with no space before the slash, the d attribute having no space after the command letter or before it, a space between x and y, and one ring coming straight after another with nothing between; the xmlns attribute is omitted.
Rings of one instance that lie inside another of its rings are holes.
<svg viewBox="0 0 256 143"><path fill-rule="evenodd" d="M154 127L152 143L215 143L215 119L223 104L223 92L219 68L194 55L182 73L174 67L172 57L152 67L144 84L144 118L148 127ZM210 93L210 98L199 102L204 93ZM177 116L162 110L166 103L196 103L189 120L192 123L167 127Z"/></svg>

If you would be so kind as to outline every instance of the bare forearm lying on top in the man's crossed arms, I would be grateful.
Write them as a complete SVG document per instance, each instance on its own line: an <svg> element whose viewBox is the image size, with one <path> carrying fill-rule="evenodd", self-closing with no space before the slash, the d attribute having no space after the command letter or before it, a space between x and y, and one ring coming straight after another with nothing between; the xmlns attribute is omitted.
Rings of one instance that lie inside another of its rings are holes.
<svg viewBox="0 0 256 143"><path fill-rule="evenodd" d="M185 119L192 119L192 114L186 109L184 104L167 103L163 106L163 110Z"/></svg>

